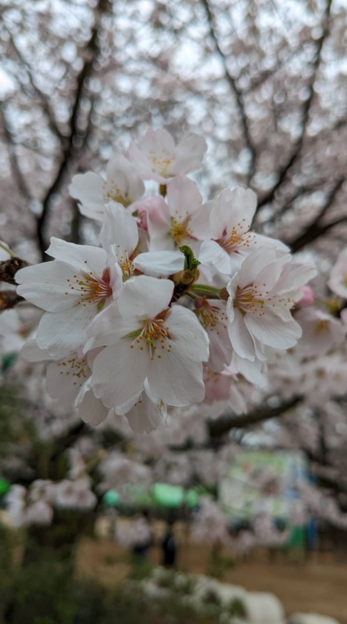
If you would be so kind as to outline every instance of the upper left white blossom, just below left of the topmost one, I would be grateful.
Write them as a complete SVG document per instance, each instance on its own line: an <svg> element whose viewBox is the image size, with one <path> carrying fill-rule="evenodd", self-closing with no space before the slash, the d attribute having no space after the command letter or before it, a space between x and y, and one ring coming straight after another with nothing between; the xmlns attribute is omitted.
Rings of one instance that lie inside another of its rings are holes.
<svg viewBox="0 0 347 624"><path fill-rule="evenodd" d="M132 212L132 205L144 195L144 182L126 158L115 154L106 168L107 179L99 173L77 173L69 187L82 215L102 222L106 203L119 203Z"/></svg>

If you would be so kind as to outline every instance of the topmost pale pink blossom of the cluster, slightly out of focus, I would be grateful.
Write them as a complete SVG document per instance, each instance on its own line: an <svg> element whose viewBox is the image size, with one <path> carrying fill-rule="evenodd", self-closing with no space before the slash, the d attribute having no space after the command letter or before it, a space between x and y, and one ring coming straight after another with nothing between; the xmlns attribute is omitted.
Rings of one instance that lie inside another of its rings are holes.
<svg viewBox="0 0 347 624"><path fill-rule="evenodd" d="M196 134L175 145L167 130L147 130L139 145L130 143L127 158L144 180L166 184L178 173L185 175L201 167L207 149L205 139Z"/></svg>

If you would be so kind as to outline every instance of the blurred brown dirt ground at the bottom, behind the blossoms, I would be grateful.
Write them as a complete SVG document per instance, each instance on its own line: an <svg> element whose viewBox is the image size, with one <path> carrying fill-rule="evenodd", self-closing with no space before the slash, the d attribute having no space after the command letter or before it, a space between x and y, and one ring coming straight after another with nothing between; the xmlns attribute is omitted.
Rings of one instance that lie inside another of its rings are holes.
<svg viewBox="0 0 347 624"><path fill-rule="evenodd" d="M113 542L84 540L78 553L79 569L108 585L115 585L129 571L125 555L124 549ZM188 572L205 573L207 555L208 548L203 545L185 544L181 548L179 567ZM150 560L159 563L159 558L160 553L154 548ZM316 612L347 624L347 565L326 561L306 565L253 561L227 570L223 582L242 585L247 590L274 593L287 614Z"/></svg>

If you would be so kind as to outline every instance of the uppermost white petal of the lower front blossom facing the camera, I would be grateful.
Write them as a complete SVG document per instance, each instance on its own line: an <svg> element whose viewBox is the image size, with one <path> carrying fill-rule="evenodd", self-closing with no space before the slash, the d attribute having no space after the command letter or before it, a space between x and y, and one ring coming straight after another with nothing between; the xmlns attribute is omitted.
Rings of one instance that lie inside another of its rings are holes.
<svg viewBox="0 0 347 624"><path fill-rule="evenodd" d="M165 310L172 298L174 282L140 275L125 282L119 297L124 318L151 319Z"/></svg>

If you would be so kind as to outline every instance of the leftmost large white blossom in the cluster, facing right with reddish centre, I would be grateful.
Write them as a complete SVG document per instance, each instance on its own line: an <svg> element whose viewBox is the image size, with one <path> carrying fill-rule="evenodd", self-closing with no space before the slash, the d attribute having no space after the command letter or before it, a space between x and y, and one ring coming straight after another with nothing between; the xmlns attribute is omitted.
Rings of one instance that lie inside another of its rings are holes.
<svg viewBox="0 0 347 624"><path fill-rule="evenodd" d="M122 277L112 250L52 238L47 253L56 260L17 271L17 292L46 310L36 341L59 359L84 344L94 316L119 296Z"/></svg>

